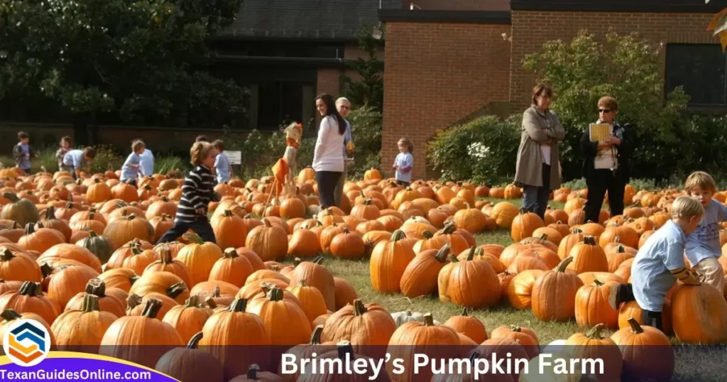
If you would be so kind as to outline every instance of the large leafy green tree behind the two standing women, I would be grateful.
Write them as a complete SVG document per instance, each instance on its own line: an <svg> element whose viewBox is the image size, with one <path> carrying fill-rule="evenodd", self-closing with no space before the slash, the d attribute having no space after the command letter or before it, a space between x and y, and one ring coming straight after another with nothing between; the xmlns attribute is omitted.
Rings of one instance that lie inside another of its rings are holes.
<svg viewBox="0 0 727 382"><path fill-rule="evenodd" d="M540 52L526 56L524 67L553 88L552 108L566 127L563 178L581 176L579 141L585 127L598 119L596 104L604 95L619 100L616 119L632 126L640 145L633 159L636 175L668 175L660 174L668 167L663 154L678 140L688 95L681 88L664 95L660 48L637 33L608 33L601 44L593 33L580 31L569 43L547 41Z"/></svg>

